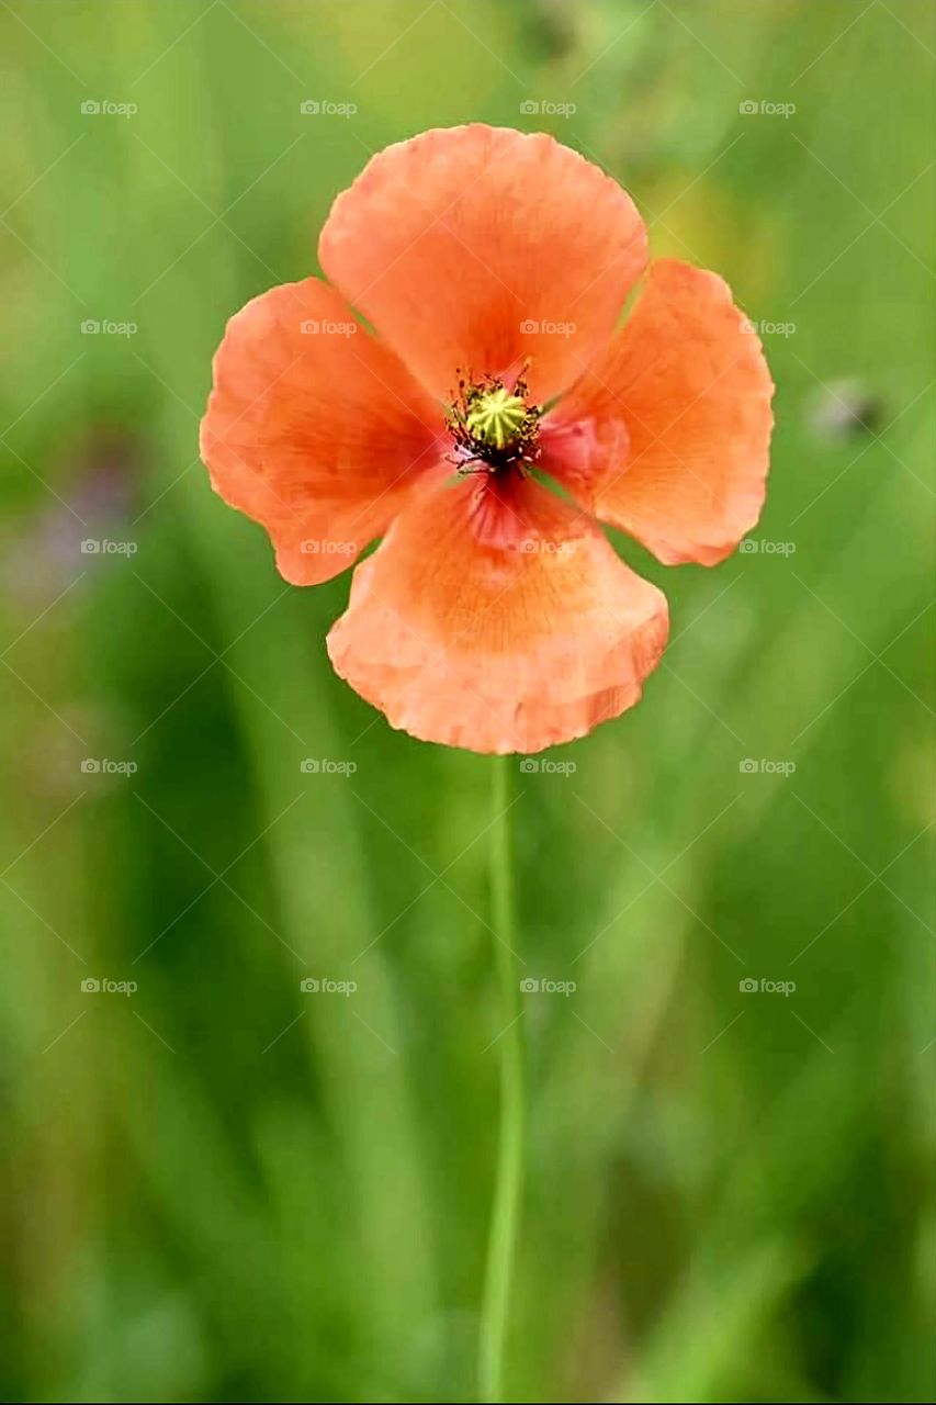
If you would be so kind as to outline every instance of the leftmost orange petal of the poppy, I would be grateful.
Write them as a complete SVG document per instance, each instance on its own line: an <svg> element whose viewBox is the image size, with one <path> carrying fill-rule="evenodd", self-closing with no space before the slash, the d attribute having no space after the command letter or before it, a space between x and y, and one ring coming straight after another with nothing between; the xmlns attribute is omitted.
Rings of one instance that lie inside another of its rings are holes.
<svg viewBox="0 0 936 1405"><path fill-rule="evenodd" d="M318 278L282 284L228 323L201 423L226 503L263 523L280 573L336 576L437 468L441 413Z"/></svg>

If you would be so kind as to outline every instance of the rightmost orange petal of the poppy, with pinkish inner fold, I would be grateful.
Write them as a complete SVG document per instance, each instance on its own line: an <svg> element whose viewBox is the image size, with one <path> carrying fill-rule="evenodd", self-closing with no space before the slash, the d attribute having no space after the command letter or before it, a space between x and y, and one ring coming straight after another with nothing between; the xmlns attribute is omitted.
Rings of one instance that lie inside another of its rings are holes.
<svg viewBox="0 0 936 1405"><path fill-rule="evenodd" d="M541 466L666 565L714 566L760 514L772 395L724 280L661 259L607 354L544 422Z"/></svg>

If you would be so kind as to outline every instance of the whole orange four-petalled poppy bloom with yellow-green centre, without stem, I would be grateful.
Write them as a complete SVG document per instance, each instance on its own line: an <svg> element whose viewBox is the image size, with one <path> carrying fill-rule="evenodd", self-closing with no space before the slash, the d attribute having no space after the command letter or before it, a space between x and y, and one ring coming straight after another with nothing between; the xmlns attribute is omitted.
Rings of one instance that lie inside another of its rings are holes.
<svg viewBox="0 0 936 1405"><path fill-rule="evenodd" d="M758 337L715 274L646 259L630 195L576 152L440 129L334 201L332 285L273 288L228 323L201 433L212 485L295 584L384 538L327 649L394 726L537 752L617 717L668 608L594 518L704 565L756 523Z"/></svg>

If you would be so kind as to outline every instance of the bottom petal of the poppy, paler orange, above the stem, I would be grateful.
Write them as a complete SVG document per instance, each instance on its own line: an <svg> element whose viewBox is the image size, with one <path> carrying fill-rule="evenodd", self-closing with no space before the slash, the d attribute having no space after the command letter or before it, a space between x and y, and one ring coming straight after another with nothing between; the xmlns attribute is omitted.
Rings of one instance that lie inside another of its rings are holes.
<svg viewBox="0 0 936 1405"><path fill-rule="evenodd" d="M392 726L472 752L538 752L641 694L665 596L534 479L472 476L410 503L354 572L327 649Z"/></svg>

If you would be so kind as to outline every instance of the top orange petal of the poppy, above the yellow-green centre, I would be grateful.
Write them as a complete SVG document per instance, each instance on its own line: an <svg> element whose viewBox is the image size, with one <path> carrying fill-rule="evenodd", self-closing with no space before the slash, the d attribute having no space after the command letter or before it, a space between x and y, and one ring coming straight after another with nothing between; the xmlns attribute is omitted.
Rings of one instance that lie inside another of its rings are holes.
<svg viewBox="0 0 936 1405"><path fill-rule="evenodd" d="M542 403L607 341L646 230L578 152L472 124L375 156L334 201L319 260L434 395L451 399L458 370L509 375L530 357Z"/></svg>

